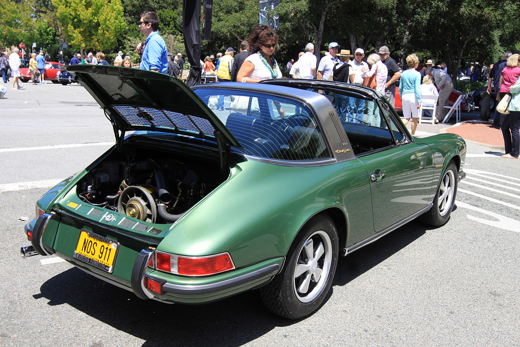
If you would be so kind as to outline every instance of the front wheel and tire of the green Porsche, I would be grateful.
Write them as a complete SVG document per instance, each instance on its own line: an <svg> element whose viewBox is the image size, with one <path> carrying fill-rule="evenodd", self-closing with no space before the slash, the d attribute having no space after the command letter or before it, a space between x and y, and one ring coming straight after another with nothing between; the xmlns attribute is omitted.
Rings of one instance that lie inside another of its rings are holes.
<svg viewBox="0 0 520 347"><path fill-rule="evenodd" d="M448 222L457 196L458 181L457 166L450 161L437 188L433 207L421 216L424 223L437 227Z"/></svg>

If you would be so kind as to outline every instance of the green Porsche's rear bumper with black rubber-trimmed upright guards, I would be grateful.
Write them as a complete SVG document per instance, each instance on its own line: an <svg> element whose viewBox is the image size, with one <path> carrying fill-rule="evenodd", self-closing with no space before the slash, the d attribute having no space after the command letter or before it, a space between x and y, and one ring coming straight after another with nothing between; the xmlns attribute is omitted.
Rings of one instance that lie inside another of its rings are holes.
<svg viewBox="0 0 520 347"><path fill-rule="evenodd" d="M114 270L114 273L109 274L95 266L73 258L70 254L64 254L67 253L67 250L65 249L59 249L59 247L53 249L49 247L49 245L56 247L55 245L57 243L54 241L42 242L45 227L49 222L59 223L59 218L59 214L44 214L38 218L35 223L35 220L33 220L25 225L25 232L32 233L31 245L38 254L50 255L56 253L59 258L68 261L74 266L82 269L84 272L112 285L132 291L141 299L154 299L167 303L191 304L221 300L230 297L231 295L267 284L272 277L278 274L284 261L284 258L280 257L219 275L207 277L185 277L149 268L147 265L153 252L143 249L138 253L135 252L135 256L132 256L132 258L129 258L127 254L126 261L122 262L124 265L119 265L126 266L126 268L120 268L119 271ZM54 227L55 226L53 226L53 228ZM55 233L50 234L56 235ZM47 238L44 238L44 240L47 240ZM58 238L59 236L57 236L56 241ZM72 244L74 245L75 243ZM121 247L124 247L123 243L121 244ZM128 262L130 259L133 259L133 265L131 265L132 262ZM127 278L122 278L119 277L117 273L129 273L130 275ZM159 291L148 289L147 283L149 280L159 283L161 289Z"/></svg>

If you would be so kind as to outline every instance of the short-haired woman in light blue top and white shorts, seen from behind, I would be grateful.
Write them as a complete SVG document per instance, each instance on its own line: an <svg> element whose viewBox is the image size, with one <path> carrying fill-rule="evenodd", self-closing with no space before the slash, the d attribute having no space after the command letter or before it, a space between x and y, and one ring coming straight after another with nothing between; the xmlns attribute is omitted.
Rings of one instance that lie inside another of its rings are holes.
<svg viewBox="0 0 520 347"><path fill-rule="evenodd" d="M408 70L401 74L399 94L401 95L402 114L405 117L403 123L408 124L412 118L412 135L415 134L419 122L419 109L421 108L421 73L415 69L419 65L419 58L415 54L406 57Z"/></svg>

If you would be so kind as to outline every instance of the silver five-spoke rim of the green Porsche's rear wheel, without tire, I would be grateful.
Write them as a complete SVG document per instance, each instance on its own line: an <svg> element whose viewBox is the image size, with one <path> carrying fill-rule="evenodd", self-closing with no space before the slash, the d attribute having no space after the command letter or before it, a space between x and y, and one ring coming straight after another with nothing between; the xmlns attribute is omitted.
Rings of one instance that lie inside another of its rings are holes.
<svg viewBox="0 0 520 347"><path fill-rule="evenodd" d="M309 236L298 253L293 286L298 300L310 302L323 291L332 265L332 241L323 230Z"/></svg>

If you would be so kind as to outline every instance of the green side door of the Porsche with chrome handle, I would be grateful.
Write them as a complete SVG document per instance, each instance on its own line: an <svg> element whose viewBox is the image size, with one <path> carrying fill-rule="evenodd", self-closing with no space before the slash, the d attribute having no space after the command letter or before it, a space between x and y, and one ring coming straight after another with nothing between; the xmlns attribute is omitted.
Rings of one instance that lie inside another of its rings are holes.
<svg viewBox="0 0 520 347"><path fill-rule="evenodd" d="M389 145L374 146L358 156L370 179L376 233L424 209L436 188L431 148L407 138L388 110L380 112L376 134L386 136Z"/></svg>

